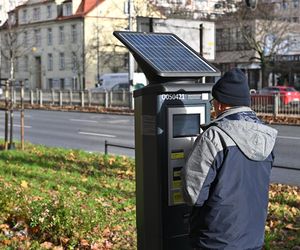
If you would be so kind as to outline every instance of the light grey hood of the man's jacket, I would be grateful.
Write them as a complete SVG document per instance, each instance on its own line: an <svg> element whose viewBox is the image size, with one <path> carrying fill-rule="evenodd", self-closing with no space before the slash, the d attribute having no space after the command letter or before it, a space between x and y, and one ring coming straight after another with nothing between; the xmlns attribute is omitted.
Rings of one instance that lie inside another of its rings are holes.
<svg viewBox="0 0 300 250"><path fill-rule="evenodd" d="M212 123L222 129L251 160L265 160L274 148L277 130L262 124L250 108L232 108Z"/></svg>

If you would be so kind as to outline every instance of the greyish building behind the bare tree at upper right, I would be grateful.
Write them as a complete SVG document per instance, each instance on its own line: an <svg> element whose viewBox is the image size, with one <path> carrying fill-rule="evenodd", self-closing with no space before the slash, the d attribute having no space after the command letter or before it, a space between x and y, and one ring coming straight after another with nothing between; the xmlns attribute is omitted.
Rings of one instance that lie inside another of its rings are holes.
<svg viewBox="0 0 300 250"><path fill-rule="evenodd" d="M300 89L300 23L285 18L283 1L267 2L253 13L257 17L241 19L235 13L216 21L216 66L222 72L243 69L252 89L273 85Z"/></svg>

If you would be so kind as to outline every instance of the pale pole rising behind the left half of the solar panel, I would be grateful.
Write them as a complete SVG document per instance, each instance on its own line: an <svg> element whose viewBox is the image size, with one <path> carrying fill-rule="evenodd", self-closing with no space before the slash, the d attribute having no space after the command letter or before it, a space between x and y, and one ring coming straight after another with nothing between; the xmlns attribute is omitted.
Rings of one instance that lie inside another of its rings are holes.
<svg viewBox="0 0 300 250"><path fill-rule="evenodd" d="M128 30L132 30L132 10L133 10L133 4L131 2L132 0L128 0ZM133 103L133 72L134 72L134 59L130 52L128 52L128 81L129 81L129 107L131 109L134 108Z"/></svg>

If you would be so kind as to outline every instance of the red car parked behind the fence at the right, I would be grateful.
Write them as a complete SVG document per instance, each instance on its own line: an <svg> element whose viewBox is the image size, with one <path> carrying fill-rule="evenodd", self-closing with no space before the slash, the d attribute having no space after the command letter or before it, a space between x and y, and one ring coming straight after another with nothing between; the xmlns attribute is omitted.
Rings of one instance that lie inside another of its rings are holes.
<svg viewBox="0 0 300 250"><path fill-rule="evenodd" d="M284 105L292 105L300 103L300 92L294 87L289 86L271 86L265 87L258 91L258 93L252 95L252 97L266 96L273 97L274 95L280 95L280 103Z"/></svg>

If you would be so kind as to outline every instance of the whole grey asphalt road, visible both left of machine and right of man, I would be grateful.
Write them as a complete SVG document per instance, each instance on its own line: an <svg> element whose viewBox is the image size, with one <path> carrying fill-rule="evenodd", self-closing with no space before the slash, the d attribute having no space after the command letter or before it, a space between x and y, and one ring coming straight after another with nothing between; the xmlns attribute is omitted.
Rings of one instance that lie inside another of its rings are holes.
<svg viewBox="0 0 300 250"><path fill-rule="evenodd" d="M14 134L19 136L19 117L15 112ZM0 137L4 135L4 112L0 112ZM278 133L272 181L300 185L300 126L273 125ZM134 117L79 112L27 110L25 140L35 144L104 152L104 141L134 146ZM109 147L109 153L134 157L134 150Z"/></svg>

